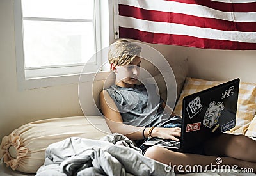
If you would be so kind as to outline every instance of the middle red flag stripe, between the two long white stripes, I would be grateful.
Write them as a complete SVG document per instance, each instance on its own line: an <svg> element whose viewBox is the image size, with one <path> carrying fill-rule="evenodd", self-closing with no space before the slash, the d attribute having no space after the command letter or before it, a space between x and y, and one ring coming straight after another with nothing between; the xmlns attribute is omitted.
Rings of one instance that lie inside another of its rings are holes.
<svg viewBox="0 0 256 176"><path fill-rule="evenodd" d="M222 31L256 31L256 22L230 22L227 20L196 17L193 15L184 15L181 13L145 10L142 8L121 4L119 4L119 15L156 22L169 22L184 24L188 26L198 26L200 28L218 29Z"/></svg>

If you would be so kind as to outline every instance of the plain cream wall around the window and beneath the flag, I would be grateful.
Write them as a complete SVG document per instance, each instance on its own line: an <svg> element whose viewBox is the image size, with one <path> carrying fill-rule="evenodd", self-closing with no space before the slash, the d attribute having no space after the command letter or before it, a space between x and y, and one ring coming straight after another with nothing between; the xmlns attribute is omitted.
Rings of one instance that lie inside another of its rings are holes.
<svg viewBox="0 0 256 176"><path fill-rule="evenodd" d="M189 59L189 76L211 80L241 77L256 82L256 51L216 51L150 44L170 63ZM45 118L83 115L78 85L67 84L34 90L18 90L15 63L13 1L0 1L0 139L22 124ZM95 83L100 84L100 83ZM91 92L92 83L84 88ZM97 112L88 94L88 112Z"/></svg>

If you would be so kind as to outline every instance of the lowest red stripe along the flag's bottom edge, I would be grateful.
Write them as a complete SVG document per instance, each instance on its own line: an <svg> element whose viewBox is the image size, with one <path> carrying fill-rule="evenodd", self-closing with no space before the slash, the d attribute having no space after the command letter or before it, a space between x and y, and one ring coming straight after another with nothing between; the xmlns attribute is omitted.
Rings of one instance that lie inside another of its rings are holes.
<svg viewBox="0 0 256 176"><path fill-rule="evenodd" d="M256 49L256 43L236 42L227 40L213 40L205 38L197 38L186 35L170 35L160 33L150 33L140 31L132 28L119 27L120 38L132 38L140 40L142 42L148 42L152 44L168 44L168 45L180 45L187 47L199 47L207 49Z"/></svg>

